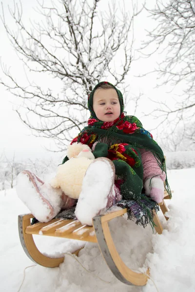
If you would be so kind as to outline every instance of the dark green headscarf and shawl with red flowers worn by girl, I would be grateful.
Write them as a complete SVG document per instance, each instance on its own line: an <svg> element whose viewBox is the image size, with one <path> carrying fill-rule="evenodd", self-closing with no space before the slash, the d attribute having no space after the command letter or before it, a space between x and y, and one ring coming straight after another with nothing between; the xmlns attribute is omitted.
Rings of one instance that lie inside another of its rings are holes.
<svg viewBox="0 0 195 292"><path fill-rule="evenodd" d="M102 83L111 85L118 95L120 103L120 116L113 122L102 122L98 120L93 110L93 96L96 89ZM151 133L145 130L141 122L135 116L128 116L124 114L124 103L122 93L109 82L100 82L88 96L88 109L91 116L88 120L88 126L83 128L78 136L71 142L80 142L90 147L95 142L98 144L94 149L94 156L108 157L115 164L116 174L118 178L122 179L120 191L123 199L135 200L145 210L145 203L143 203L143 165L141 162L141 155L139 148L150 150L160 166L161 170L166 173L166 165L164 154L160 146L153 139ZM63 163L68 160L67 156ZM171 198L171 190L167 181L165 181L165 188ZM144 200L146 196L144 195ZM141 201L142 200L142 201ZM146 198L146 200L151 200ZM149 215L150 217L150 215ZM150 223L153 220L149 218Z"/></svg>

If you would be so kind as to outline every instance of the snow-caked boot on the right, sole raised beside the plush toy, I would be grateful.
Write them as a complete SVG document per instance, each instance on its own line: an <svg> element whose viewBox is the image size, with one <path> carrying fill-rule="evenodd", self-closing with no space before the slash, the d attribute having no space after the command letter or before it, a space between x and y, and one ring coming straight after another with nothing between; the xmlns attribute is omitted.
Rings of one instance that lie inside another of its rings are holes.
<svg viewBox="0 0 195 292"><path fill-rule="evenodd" d="M89 165L75 210L82 224L92 225L94 216L113 205L117 188L114 180L115 166L108 158L97 158Z"/></svg>

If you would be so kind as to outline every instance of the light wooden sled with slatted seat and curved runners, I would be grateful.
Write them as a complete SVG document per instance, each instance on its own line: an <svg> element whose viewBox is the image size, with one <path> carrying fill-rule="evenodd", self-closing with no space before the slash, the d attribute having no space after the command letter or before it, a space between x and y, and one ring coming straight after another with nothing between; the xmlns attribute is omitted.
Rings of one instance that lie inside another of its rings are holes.
<svg viewBox="0 0 195 292"><path fill-rule="evenodd" d="M168 194L164 193L164 199L169 199ZM168 211L164 200L159 203L162 213ZM33 235L46 235L53 237L64 237L78 239L83 241L97 242L99 249L104 257L108 267L113 274L127 285L144 286L147 283L149 270L146 274L141 274L129 269L121 260L113 242L108 222L118 216L122 216L127 209L121 209L106 215L100 215L93 218L93 226L82 225L78 220L73 219L52 219L47 223L36 223L31 225L32 214L19 215L19 235L21 245L26 255L44 267L58 267L63 262L64 257L50 258L41 254L34 242ZM168 218L165 216L165 219ZM162 233L162 225L154 213L155 229L158 234ZM78 255L78 251L74 254Z"/></svg>

